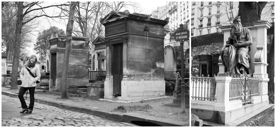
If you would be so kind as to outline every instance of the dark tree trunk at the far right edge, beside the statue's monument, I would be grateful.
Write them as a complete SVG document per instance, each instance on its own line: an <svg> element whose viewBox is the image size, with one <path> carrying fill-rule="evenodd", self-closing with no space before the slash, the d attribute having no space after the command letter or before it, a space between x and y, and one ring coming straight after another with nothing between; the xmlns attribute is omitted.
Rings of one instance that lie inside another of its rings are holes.
<svg viewBox="0 0 276 128"><path fill-rule="evenodd" d="M274 35L273 34L273 39L272 39L272 43L270 45L270 50L269 50L269 54L268 54L268 66L267 66L267 74L268 74L268 91L269 92L274 92L274 54L275 54L275 50L274 50Z"/></svg>

